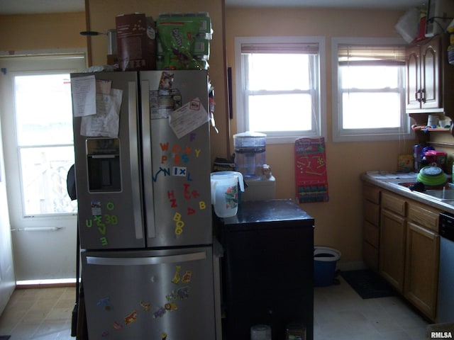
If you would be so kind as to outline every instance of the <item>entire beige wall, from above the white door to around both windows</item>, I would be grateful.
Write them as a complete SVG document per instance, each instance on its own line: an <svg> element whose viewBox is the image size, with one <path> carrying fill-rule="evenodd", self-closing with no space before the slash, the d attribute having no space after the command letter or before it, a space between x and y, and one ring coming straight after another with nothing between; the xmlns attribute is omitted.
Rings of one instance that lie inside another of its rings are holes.
<svg viewBox="0 0 454 340"><path fill-rule="evenodd" d="M333 143L331 138L331 37L398 36L393 26L402 13L397 11L343 11L319 9L226 8L224 45L223 1L89 0L89 26L106 32L115 27L119 13L142 11L156 17L162 11L207 11L214 28L211 42L210 77L216 92L216 123L220 133L212 133L212 157L226 157L229 132L226 110L226 66L235 67L233 40L242 35L324 35L326 37L326 145L328 203L301 205L316 219L315 243L342 251L342 261L360 261L362 201L359 176L372 169L395 170L397 156L411 152L414 140L399 142ZM35 16L0 16L0 51L43 50L85 47L84 13ZM93 64L106 62L104 35L92 38ZM227 62L224 57L227 52ZM233 70L233 75L235 74ZM373 103L371 104L373 105ZM365 108L367 109L367 108ZM234 112L234 115L236 113ZM277 197L294 198L293 145L268 145L267 163L277 178Z"/></svg>

